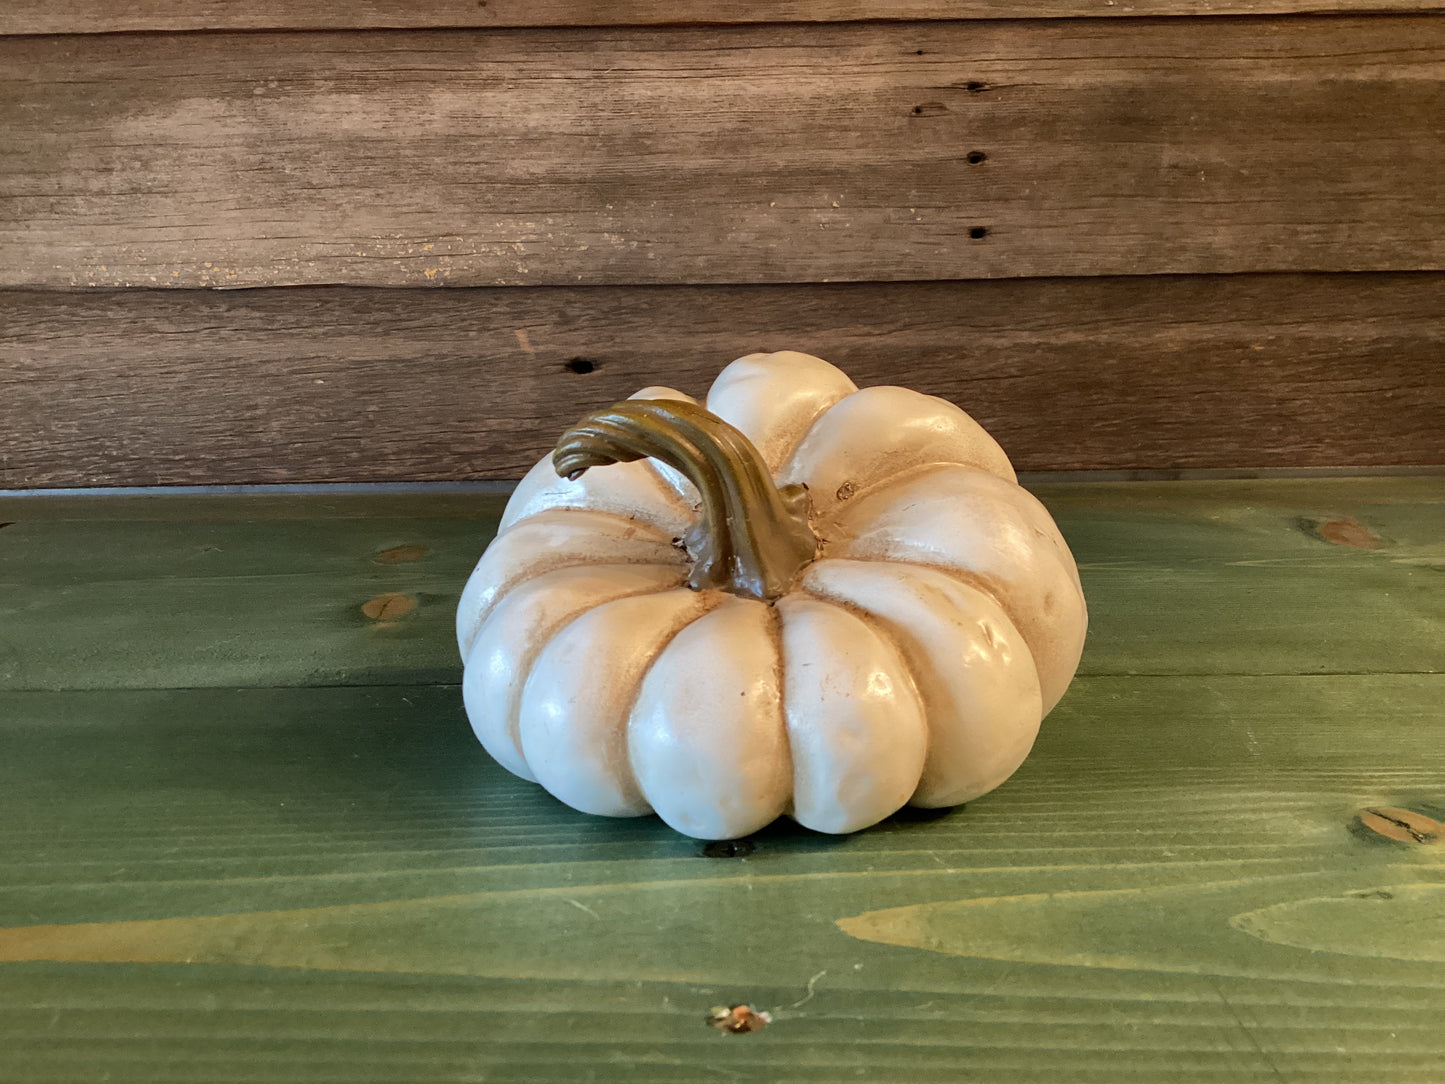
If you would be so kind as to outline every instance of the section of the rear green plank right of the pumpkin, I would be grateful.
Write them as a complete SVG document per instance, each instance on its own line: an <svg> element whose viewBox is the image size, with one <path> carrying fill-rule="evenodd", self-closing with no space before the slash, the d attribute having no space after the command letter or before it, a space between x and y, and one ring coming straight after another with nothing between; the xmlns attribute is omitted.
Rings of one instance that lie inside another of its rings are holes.
<svg viewBox="0 0 1445 1084"><path fill-rule="evenodd" d="M1085 674L1438 672L1445 478L1039 487L1090 601Z"/></svg>

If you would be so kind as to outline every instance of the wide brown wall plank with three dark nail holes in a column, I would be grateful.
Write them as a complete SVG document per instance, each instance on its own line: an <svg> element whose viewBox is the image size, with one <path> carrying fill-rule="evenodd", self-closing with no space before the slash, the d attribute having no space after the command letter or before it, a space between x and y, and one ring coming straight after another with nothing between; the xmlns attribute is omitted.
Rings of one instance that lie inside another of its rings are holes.
<svg viewBox="0 0 1445 1084"><path fill-rule="evenodd" d="M0 39L0 283L1445 267L1445 19Z"/></svg>

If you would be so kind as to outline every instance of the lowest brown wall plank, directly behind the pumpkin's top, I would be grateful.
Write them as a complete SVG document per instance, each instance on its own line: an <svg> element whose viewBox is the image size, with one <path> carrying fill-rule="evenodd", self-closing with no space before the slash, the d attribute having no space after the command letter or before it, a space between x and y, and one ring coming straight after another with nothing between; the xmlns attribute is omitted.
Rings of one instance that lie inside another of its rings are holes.
<svg viewBox="0 0 1445 1084"><path fill-rule="evenodd" d="M1022 470L1442 464L1442 299L1438 273L0 292L0 489L516 478L587 409L777 348L946 396Z"/></svg>

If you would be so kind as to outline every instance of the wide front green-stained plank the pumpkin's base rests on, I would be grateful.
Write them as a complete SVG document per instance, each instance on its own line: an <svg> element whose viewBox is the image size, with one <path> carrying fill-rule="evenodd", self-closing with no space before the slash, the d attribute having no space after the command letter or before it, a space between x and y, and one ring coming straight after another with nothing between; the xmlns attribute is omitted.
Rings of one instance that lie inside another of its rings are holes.
<svg viewBox="0 0 1445 1084"><path fill-rule="evenodd" d="M1355 814L1442 815L1442 694L1082 678L967 809L707 859L455 688L0 692L0 1080L1433 1081L1445 851Z"/></svg>

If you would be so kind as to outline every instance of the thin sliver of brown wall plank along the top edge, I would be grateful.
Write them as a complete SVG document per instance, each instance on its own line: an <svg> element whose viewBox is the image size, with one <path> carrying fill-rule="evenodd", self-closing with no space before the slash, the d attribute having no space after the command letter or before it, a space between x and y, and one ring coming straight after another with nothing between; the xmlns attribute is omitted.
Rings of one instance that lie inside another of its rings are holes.
<svg viewBox="0 0 1445 1084"><path fill-rule="evenodd" d="M354 30L383 27L832 23L884 19L1056 19L1314 12L1438 12L1438 0L12 0L0 33Z"/></svg>

